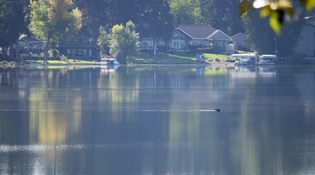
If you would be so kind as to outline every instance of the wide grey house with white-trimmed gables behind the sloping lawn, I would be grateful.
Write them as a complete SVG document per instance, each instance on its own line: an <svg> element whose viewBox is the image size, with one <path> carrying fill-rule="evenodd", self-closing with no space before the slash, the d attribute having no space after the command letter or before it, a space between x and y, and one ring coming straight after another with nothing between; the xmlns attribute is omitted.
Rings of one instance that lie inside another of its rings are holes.
<svg viewBox="0 0 315 175"><path fill-rule="evenodd" d="M234 53L234 45L230 45L232 38L221 30L210 25L178 25L169 41L156 39L156 46L166 46L176 52L185 52L190 46L206 47L213 42L221 53ZM153 38L141 38L140 49L153 49Z"/></svg>

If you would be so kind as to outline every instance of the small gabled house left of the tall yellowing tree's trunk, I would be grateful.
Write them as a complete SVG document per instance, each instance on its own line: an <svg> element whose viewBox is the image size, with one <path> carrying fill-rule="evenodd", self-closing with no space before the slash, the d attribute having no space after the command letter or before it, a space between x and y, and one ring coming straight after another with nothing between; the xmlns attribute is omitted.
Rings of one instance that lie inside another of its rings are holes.
<svg viewBox="0 0 315 175"><path fill-rule="evenodd" d="M44 47L43 41L36 37L28 35L21 35L19 37L19 55L29 54L30 52L40 55L40 53L44 52Z"/></svg>

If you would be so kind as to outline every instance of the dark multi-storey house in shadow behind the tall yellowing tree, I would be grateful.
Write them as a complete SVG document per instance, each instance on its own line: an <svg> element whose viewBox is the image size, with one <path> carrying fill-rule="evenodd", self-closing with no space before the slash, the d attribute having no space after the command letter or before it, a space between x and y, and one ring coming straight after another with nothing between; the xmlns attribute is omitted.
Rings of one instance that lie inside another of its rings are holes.
<svg viewBox="0 0 315 175"><path fill-rule="evenodd" d="M59 54L70 59L98 59L96 42L87 30L82 28L76 35L66 33L62 39L52 43L52 47L59 50Z"/></svg>

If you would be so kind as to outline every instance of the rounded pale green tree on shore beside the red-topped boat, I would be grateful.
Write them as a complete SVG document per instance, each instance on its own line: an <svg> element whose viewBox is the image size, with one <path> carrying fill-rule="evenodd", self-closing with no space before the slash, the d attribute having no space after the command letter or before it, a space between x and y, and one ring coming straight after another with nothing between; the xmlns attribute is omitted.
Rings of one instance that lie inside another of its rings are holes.
<svg viewBox="0 0 315 175"><path fill-rule="evenodd" d="M110 54L121 64L127 64L127 56L136 54L139 50L139 33L135 33L135 25L128 21L126 27L114 25L110 40Z"/></svg>

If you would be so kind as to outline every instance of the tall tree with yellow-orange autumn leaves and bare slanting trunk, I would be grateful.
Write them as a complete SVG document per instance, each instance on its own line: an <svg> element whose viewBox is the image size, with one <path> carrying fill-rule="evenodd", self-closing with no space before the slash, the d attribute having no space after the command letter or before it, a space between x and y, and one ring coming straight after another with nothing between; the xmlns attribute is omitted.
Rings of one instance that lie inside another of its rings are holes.
<svg viewBox="0 0 315 175"><path fill-rule="evenodd" d="M31 0L29 29L46 40L44 61L47 61L50 39L58 39L66 32L77 32L82 27L81 12L72 8L71 0Z"/></svg>

